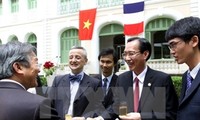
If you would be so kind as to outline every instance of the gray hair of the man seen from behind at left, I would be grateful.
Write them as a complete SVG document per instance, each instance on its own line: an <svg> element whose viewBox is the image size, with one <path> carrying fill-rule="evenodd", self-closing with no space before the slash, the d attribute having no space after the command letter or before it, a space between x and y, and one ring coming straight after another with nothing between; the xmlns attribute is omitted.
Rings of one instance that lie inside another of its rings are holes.
<svg viewBox="0 0 200 120"><path fill-rule="evenodd" d="M36 48L29 43L10 41L0 45L0 79L9 78L14 74L13 64L19 62L30 67L30 54L36 54Z"/></svg>

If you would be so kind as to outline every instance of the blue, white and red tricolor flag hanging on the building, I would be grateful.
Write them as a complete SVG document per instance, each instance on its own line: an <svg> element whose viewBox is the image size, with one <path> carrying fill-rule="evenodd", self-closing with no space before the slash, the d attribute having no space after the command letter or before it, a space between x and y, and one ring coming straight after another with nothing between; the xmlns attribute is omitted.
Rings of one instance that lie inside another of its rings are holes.
<svg viewBox="0 0 200 120"><path fill-rule="evenodd" d="M125 0L123 10L124 34L132 36L142 33L144 31L144 0Z"/></svg>

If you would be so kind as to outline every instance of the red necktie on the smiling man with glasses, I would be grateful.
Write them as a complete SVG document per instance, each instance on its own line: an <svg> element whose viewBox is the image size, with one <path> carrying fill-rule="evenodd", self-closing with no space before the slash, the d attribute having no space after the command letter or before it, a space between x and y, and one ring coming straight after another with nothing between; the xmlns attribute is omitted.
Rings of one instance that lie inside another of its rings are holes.
<svg viewBox="0 0 200 120"><path fill-rule="evenodd" d="M138 111L139 104L139 79L136 77L135 80L135 90L134 90L134 112Z"/></svg>

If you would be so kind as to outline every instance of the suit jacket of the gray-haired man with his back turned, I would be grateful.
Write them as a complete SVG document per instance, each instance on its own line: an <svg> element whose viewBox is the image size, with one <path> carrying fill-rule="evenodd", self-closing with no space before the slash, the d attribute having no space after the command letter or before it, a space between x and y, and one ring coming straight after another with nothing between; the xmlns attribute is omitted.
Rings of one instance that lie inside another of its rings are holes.
<svg viewBox="0 0 200 120"><path fill-rule="evenodd" d="M60 120L49 99L19 84L0 81L0 91L0 120Z"/></svg>

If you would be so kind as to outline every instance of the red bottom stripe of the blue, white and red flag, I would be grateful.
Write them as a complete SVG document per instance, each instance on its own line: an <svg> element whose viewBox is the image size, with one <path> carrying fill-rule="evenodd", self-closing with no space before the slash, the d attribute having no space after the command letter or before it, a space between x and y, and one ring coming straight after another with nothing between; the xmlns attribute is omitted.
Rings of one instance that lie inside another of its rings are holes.
<svg viewBox="0 0 200 120"><path fill-rule="evenodd" d="M136 24L124 24L125 35L138 35L143 32L144 22Z"/></svg>

